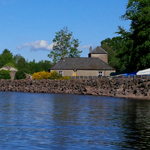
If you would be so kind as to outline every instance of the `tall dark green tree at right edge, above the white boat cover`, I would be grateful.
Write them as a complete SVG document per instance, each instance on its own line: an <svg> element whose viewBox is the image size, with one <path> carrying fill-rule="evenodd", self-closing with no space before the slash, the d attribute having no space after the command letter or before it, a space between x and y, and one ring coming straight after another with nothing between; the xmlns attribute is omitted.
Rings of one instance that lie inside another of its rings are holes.
<svg viewBox="0 0 150 150"><path fill-rule="evenodd" d="M118 57L132 70L149 68L150 0L129 0L122 18L131 20L131 27L129 32L119 28L118 34L121 35L124 45L118 51Z"/></svg>

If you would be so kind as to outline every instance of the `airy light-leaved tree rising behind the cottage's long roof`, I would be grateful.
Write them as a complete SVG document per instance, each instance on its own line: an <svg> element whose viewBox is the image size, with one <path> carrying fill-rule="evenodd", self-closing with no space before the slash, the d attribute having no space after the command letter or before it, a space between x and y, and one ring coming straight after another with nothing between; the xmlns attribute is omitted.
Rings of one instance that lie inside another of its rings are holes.
<svg viewBox="0 0 150 150"><path fill-rule="evenodd" d="M56 32L53 43L53 50L48 57L53 59L54 64L64 57L80 57L82 51L77 49L79 40L72 37L72 32L69 32L67 27Z"/></svg>

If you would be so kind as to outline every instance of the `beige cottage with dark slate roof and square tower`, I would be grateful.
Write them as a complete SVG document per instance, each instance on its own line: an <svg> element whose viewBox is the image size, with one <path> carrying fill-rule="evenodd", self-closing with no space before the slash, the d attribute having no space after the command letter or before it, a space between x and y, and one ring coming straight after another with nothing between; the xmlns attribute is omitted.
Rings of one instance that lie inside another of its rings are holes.
<svg viewBox="0 0 150 150"><path fill-rule="evenodd" d="M68 57L51 67L62 76L110 76L115 69L108 65L108 53L97 46L90 47L88 57Z"/></svg>

